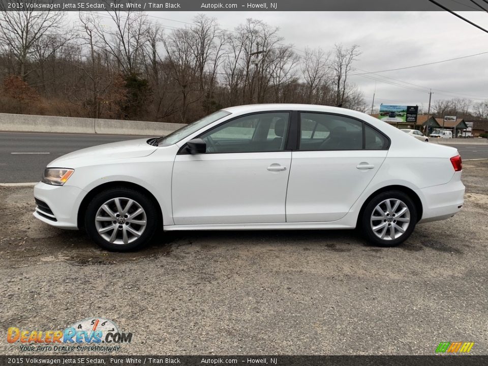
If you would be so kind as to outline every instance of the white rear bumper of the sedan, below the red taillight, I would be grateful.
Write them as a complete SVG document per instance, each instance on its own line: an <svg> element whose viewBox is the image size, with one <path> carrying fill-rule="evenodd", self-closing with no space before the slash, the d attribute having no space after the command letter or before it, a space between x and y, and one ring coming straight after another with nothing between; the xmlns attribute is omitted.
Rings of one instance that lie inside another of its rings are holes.
<svg viewBox="0 0 488 366"><path fill-rule="evenodd" d="M461 172L455 172L447 184L418 190L423 206L419 223L445 220L454 216L464 204L465 189Z"/></svg>

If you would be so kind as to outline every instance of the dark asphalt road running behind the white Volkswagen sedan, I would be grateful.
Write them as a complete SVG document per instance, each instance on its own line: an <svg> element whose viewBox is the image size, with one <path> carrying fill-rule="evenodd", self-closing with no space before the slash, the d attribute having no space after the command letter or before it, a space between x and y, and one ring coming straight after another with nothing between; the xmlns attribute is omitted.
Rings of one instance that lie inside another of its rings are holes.
<svg viewBox="0 0 488 366"><path fill-rule="evenodd" d="M0 183L39 181L46 165L59 156L89 146L141 137L2 132ZM459 150L464 160L488 158L488 145L452 146Z"/></svg>

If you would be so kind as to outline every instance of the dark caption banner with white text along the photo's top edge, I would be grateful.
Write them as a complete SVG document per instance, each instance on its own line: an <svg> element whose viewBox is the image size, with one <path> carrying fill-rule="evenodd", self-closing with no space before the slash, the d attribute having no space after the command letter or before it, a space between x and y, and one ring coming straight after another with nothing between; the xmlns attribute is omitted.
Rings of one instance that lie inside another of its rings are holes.
<svg viewBox="0 0 488 366"><path fill-rule="evenodd" d="M470 0L439 0L452 11L483 11ZM429 0L0 0L1 11L443 11Z"/></svg>

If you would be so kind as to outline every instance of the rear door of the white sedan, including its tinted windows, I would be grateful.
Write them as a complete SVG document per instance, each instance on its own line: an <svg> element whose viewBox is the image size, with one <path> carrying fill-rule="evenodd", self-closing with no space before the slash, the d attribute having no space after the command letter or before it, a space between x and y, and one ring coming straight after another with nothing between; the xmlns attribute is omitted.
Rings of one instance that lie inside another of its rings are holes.
<svg viewBox="0 0 488 366"><path fill-rule="evenodd" d="M385 160L388 138L368 124L337 114L300 112L292 155L287 222L344 217Z"/></svg>

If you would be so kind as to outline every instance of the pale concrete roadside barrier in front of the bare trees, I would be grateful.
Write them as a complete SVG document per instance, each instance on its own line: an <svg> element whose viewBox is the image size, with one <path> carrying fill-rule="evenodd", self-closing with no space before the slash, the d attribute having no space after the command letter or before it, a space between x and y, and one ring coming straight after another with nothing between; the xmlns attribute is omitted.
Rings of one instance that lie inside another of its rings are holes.
<svg viewBox="0 0 488 366"><path fill-rule="evenodd" d="M184 124L0 113L0 131L163 136Z"/></svg>

